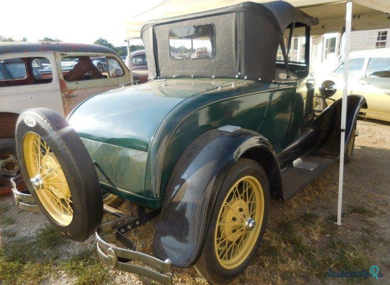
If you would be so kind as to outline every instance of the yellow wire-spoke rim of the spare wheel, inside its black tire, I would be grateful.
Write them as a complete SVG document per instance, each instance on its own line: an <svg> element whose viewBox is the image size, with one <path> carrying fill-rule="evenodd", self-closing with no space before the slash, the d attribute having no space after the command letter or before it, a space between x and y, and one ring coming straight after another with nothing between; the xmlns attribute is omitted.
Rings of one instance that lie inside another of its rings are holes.
<svg viewBox="0 0 390 285"><path fill-rule="evenodd" d="M72 197L58 159L34 132L26 133L22 146L26 170L39 201L59 225L69 225L73 219Z"/></svg>

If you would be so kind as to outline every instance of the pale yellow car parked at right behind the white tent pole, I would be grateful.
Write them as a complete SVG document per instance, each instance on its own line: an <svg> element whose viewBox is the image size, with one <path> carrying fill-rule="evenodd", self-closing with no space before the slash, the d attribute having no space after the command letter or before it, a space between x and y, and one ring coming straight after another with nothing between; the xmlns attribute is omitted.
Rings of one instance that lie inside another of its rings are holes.
<svg viewBox="0 0 390 285"><path fill-rule="evenodd" d="M390 49L353 52L349 57L348 94L362 95L366 98L367 117L390 121ZM317 96L321 96L319 89L325 80L334 82L336 89L329 99L315 97L315 109L323 110L333 103L332 100L342 97L343 72L342 61L330 74L314 74Z"/></svg>

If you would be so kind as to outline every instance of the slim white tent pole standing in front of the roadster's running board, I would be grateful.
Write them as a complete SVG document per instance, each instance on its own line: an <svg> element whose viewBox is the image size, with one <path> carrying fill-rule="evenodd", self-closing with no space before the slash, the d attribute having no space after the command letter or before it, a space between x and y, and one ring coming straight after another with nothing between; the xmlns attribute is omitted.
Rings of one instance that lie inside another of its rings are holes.
<svg viewBox="0 0 390 285"><path fill-rule="evenodd" d="M349 40L351 36L352 26L352 1L348 0L346 3L345 16L345 36L344 36L344 88L342 92L342 106L341 106L341 138L340 138L340 167L338 176L338 203L337 203L337 223L341 225L341 206L342 206L342 188L344 178L344 146L345 146L345 125L347 116L347 93L348 93L348 60L349 60Z"/></svg>

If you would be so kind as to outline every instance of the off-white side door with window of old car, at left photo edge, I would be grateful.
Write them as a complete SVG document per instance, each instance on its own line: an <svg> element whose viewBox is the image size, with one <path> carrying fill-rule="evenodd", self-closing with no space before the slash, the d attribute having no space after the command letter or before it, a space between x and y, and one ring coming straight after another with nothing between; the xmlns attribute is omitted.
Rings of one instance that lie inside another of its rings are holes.
<svg viewBox="0 0 390 285"><path fill-rule="evenodd" d="M53 53L0 56L0 112L46 107L64 115L55 62Z"/></svg>

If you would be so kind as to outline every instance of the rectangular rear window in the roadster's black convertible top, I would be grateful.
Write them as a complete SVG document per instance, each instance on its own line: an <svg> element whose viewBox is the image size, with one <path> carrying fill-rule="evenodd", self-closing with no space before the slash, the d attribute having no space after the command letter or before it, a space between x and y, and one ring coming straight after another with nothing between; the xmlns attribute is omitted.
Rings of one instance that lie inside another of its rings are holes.
<svg viewBox="0 0 390 285"><path fill-rule="evenodd" d="M170 29L169 52L173 59L214 57L215 26L206 24Z"/></svg>

